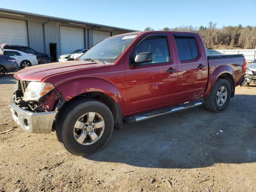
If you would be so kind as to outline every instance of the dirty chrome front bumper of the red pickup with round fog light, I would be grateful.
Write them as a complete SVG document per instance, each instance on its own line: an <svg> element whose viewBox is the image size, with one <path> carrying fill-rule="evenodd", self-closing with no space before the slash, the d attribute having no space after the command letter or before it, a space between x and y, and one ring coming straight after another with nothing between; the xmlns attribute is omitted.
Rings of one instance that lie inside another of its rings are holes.
<svg viewBox="0 0 256 192"><path fill-rule="evenodd" d="M24 130L30 133L50 133L57 111L33 113L26 111L14 103L14 97L10 102L10 110L14 121Z"/></svg>

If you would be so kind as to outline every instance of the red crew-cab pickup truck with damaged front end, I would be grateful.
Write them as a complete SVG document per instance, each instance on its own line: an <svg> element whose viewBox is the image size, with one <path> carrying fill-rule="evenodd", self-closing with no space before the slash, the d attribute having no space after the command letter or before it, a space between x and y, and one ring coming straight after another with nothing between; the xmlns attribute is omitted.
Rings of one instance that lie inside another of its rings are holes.
<svg viewBox="0 0 256 192"><path fill-rule="evenodd" d="M246 82L245 71L241 54L207 56L196 33L132 32L103 40L76 61L20 70L10 108L23 130L56 130L66 150L84 156L100 150L123 122L203 100L208 110L224 110Z"/></svg>

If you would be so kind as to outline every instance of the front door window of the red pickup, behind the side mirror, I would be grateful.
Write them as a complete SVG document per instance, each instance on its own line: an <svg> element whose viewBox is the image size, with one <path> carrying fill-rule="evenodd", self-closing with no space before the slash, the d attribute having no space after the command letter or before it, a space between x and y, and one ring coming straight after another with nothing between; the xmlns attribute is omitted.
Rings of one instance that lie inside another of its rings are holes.
<svg viewBox="0 0 256 192"><path fill-rule="evenodd" d="M144 40L135 50L132 52L130 61L134 62L136 54L141 52L151 52L152 61L145 64L165 63L170 61L168 42L166 37L154 37Z"/></svg>

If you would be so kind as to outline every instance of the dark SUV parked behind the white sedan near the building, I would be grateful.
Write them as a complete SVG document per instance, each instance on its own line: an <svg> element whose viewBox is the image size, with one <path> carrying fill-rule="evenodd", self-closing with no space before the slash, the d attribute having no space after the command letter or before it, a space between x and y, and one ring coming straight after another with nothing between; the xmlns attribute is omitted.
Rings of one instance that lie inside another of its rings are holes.
<svg viewBox="0 0 256 192"><path fill-rule="evenodd" d="M18 51L22 51L27 54L34 54L34 55L36 55L36 59L37 59L38 63L40 63L40 64L46 64L46 63L48 63L48 61L50 59L48 54L37 52L36 50L34 50L30 47L27 47L27 46L2 44L2 47L4 49L18 50Z"/></svg>

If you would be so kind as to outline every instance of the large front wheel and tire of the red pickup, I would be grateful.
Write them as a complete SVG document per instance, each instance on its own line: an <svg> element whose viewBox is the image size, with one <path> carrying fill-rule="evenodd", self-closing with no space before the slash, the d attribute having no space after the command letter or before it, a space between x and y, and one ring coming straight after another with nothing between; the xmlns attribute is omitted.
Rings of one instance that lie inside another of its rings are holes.
<svg viewBox="0 0 256 192"><path fill-rule="evenodd" d="M56 134L68 152L85 156L102 149L114 129L113 114L102 102L76 100L57 116Z"/></svg>

